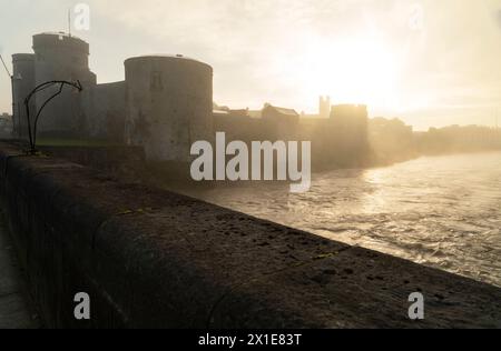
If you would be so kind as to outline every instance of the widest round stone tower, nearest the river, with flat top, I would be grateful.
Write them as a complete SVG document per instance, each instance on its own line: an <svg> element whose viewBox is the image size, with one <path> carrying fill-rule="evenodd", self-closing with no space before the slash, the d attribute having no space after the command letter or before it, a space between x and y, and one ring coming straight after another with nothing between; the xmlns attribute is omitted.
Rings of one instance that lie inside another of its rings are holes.
<svg viewBox="0 0 501 351"><path fill-rule="evenodd" d="M183 56L125 61L126 141L150 161L189 162L191 143L212 141L213 68Z"/></svg>

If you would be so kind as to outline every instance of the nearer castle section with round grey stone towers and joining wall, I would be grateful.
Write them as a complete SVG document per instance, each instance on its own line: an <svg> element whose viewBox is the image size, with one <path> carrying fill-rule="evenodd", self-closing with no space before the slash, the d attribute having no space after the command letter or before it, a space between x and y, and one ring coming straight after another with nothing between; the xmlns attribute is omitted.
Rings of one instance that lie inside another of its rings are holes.
<svg viewBox="0 0 501 351"><path fill-rule="evenodd" d="M125 142L143 147L151 161L187 161L194 140L214 138L213 69L206 63L183 56L130 58L124 63L125 81L98 84L84 40L41 33L33 36L32 49L12 56L14 124L22 139L28 130L26 97L52 80L78 80L84 90L65 88L43 108L38 122L42 138ZM58 89L37 93L30 110L39 110Z"/></svg>

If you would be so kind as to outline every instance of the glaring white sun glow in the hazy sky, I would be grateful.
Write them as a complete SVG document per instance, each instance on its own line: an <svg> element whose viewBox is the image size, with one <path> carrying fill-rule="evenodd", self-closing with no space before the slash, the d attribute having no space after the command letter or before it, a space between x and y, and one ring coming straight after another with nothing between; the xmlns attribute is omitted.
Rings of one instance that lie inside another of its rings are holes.
<svg viewBox="0 0 501 351"><path fill-rule="evenodd" d="M296 68L304 92L330 94L334 103L366 103L399 108L400 62L391 48L373 39L313 41Z"/></svg>

